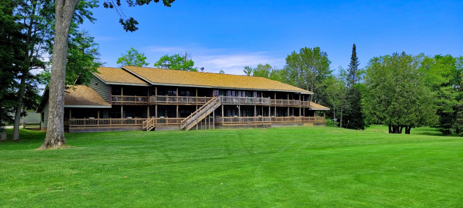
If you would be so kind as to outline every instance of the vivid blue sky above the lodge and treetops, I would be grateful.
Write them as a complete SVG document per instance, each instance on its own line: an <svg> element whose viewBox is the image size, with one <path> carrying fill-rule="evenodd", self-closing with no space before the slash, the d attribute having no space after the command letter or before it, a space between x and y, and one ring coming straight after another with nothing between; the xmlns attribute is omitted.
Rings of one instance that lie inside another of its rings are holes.
<svg viewBox="0 0 463 208"><path fill-rule="evenodd" d="M122 0L124 1L124 0ZM363 67L374 56L407 53L463 55L463 0L310 1L176 0L127 7L139 30L125 32L119 15L100 6L83 29L100 43L106 66L130 47L150 66L164 54L188 51L206 71L243 74L244 66L285 65L302 47L319 46L332 69L349 64L352 43Z"/></svg>

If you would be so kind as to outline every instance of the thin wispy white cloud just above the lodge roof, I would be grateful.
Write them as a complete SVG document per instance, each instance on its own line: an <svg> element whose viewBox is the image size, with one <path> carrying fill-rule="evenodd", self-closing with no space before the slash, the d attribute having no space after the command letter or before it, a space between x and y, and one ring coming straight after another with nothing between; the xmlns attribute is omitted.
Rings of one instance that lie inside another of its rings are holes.
<svg viewBox="0 0 463 208"><path fill-rule="evenodd" d="M194 66L204 67L207 72L220 70L227 74L243 74L244 66L256 67L258 64L270 64L282 67L285 63L284 58L275 58L268 52L231 52L224 48L203 48L203 47L178 47L178 46L148 46L143 48L145 55L150 57L150 61L156 62L162 55L175 54L188 51L193 54Z"/></svg>

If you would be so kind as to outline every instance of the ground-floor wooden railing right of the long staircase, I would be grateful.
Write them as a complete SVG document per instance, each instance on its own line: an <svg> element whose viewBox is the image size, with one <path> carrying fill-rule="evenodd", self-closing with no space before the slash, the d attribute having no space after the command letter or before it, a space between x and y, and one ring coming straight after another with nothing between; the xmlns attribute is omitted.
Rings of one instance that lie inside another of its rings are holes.
<svg viewBox="0 0 463 208"><path fill-rule="evenodd" d="M217 117L216 124L325 122L325 117Z"/></svg>

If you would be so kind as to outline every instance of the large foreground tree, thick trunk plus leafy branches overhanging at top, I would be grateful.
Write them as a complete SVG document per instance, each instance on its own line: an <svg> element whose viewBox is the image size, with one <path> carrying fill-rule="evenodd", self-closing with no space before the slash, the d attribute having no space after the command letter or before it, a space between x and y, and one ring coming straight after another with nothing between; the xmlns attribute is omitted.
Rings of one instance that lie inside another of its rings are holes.
<svg viewBox="0 0 463 208"><path fill-rule="evenodd" d="M53 44L53 57L50 74L50 96L49 96L49 121L47 134L41 149L56 148L66 143L64 137L64 88L65 88L65 69L68 53L68 37L72 18L76 6L81 0L55 0L55 37ZM159 0L125 0L128 6L142 6L150 2ZM164 6L171 6L174 0L163 0ZM125 31L138 30L138 22L134 18L125 18L120 12L121 1L108 0L103 3L105 8L116 10L120 15L119 23Z"/></svg>

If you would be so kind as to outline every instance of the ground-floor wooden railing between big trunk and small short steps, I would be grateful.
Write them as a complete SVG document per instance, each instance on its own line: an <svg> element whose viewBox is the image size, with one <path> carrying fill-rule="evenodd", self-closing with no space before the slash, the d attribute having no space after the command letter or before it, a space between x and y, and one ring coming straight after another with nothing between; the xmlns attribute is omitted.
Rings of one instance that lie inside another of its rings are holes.
<svg viewBox="0 0 463 208"><path fill-rule="evenodd" d="M143 119L69 119L69 127L141 126Z"/></svg>

